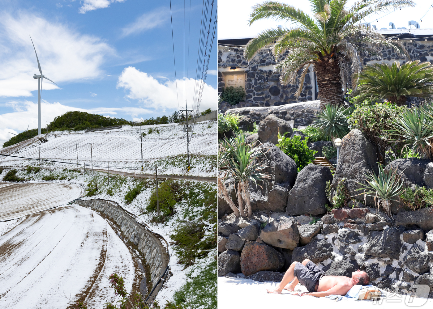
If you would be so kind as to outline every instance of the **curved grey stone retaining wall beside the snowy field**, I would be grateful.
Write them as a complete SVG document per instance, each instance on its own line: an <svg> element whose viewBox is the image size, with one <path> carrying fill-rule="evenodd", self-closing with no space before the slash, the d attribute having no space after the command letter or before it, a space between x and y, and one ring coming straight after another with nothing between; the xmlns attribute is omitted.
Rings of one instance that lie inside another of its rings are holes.
<svg viewBox="0 0 433 309"><path fill-rule="evenodd" d="M118 206L103 200L75 200L74 203L101 212L120 226L128 240L138 246L138 250L145 255L146 263L150 267L150 280L155 286L168 265L168 253L161 241ZM156 289L156 293L158 293L158 289ZM156 293L154 292L154 295Z"/></svg>

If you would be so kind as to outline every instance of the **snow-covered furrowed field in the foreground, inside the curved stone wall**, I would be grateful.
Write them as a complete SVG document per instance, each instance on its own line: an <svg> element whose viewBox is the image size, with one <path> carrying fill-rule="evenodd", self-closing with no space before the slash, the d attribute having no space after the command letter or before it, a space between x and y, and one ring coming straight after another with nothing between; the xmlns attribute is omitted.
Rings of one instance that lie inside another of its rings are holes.
<svg viewBox="0 0 433 309"><path fill-rule="evenodd" d="M66 308L84 294L88 308L102 309L120 299L107 280L114 272L131 290L136 269L128 248L81 206L36 212L0 236L0 308Z"/></svg>

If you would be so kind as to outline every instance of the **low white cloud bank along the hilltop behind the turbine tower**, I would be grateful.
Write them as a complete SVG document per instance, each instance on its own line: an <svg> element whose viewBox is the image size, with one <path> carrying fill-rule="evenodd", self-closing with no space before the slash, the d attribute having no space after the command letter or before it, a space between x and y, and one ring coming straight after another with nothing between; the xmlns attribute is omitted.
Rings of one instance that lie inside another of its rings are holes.
<svg viewBox="0 0 433 309"><path fill-rule="evenodd" d="M8 141L13 134L23 132L29 127L29 129L35 129L38 127L38 104L31 101L10 101L6 103L6 106L13 107L13 113L6 113L0 115L0 146L4 142ZM55 117L60 116L64 113L79 110L82 112L102 114L104 116L116 116L118 112L131 116L132 119L137 119L139 115L145 115L152 113L150 109L142 107L98 107L94 109L82 109L63 105L61 103L48 103L45 100L41 100L41 123L42 127L46 126L46 123L50 123Z"/></svg>

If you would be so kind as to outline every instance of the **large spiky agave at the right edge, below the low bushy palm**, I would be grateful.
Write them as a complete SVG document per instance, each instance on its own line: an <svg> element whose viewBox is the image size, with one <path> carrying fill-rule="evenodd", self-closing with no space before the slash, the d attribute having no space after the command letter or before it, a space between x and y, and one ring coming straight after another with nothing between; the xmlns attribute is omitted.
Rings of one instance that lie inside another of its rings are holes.
<svg viewBox="0 0 433 309"><path fill-rule="evenodd" d="M402 151L409 147L423 158L433 159L433 106L423 104L420 107L404 110L393 127L400 135L395 142L406 142Z"/></svg>

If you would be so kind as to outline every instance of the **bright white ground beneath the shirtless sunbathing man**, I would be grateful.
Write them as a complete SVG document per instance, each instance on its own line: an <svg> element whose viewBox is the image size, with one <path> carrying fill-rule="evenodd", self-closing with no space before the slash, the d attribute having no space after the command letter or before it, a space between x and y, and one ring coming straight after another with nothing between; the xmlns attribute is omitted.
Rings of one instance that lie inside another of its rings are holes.
<svg viewBox="0 0 433 309"><path fill-rule="evenodd" d="M283 290L283 294L269 294L266 289L276 286L276 282L259 282L243 278L218 277L218 308L296 308L296 309L327 309L327 308L407 308L415 306L431 308L433 299L420 299L406 296L391 296L373 302L371 300L342 300L334 301L326 297L290 295ZM297 285L297 289L306 291L304 286Z"/></svg>

